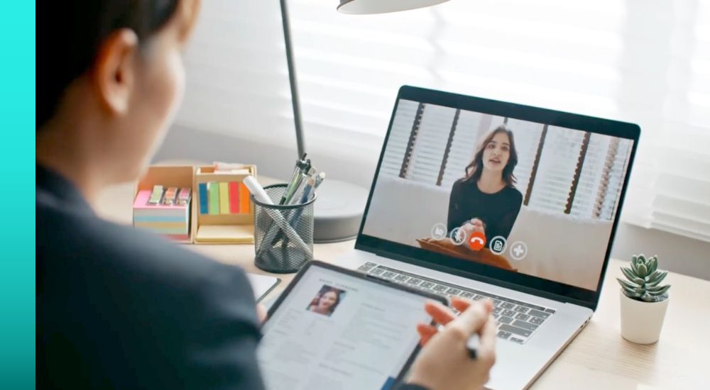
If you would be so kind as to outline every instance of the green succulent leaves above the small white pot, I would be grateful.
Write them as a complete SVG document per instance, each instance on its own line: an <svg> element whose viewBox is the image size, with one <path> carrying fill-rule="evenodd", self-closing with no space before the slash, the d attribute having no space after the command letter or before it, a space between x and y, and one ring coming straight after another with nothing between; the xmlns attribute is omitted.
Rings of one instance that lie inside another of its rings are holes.
<svg viewBox="0 0 710 390"><path fill-rule="evenodd" d="M616 278L623 293L630 299L644 302L660 302L668 298L670 284L660 282L668 274L658 269L658 257L646 259L644 255L633 256L630 267L621 267L621 272L628 280Z"/></svg>

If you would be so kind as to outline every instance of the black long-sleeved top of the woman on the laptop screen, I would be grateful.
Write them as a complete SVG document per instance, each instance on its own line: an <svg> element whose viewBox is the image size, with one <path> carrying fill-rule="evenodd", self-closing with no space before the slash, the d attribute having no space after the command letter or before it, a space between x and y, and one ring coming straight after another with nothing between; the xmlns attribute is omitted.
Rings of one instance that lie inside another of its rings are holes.
<svg viewBox="0 0 710 390"><path fill-rule="evenodd" d="M479 218L486 230L486 247L491 238L501 235L508 239L518 218L523 194L513 186L506 186L495 194L481 192L473 180L459 179L454 183L449 196L449 231L464 225L472 218Z"/></svg>

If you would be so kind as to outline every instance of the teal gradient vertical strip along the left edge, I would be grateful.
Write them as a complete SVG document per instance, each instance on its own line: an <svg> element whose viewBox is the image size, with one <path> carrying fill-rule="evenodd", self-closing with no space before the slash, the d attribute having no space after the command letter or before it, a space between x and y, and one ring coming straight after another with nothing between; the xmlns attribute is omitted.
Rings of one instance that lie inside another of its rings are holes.
<svg viewBox="0 0 710 390"><path fill-rule="evenodd" d="M35 2L0 16L0 389L35 388Z"/></svg>

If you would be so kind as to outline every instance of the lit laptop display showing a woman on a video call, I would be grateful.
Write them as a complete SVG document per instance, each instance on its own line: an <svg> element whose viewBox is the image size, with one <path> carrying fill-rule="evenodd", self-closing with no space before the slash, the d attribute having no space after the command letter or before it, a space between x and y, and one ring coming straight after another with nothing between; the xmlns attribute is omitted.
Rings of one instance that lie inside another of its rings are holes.
<svg viewBox="0 0 710 390"><path fill-rule="evenodd" d="M362 233L595 291L633 140L594 130L400 99Z"/></svg>

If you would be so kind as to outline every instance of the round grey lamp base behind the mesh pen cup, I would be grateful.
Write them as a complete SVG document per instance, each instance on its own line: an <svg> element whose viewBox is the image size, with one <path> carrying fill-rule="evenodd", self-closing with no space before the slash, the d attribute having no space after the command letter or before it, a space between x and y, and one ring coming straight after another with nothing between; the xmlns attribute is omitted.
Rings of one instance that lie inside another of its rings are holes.
<svg viewBox="0 0 710 390"><path fill-rule="evenodd" d="M357 237L369 194L367 189L326 179L313 205L314 243L337 243Z"/></svg>

